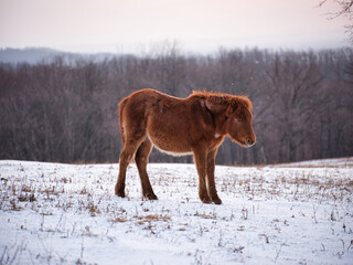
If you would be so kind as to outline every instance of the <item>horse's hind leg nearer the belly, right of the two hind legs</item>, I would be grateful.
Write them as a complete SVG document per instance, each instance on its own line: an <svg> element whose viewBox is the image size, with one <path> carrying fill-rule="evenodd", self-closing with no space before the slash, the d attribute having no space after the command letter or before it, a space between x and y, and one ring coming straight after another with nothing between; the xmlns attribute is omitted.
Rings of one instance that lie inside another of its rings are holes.
<svg viewBox="0 0 353 265"><path fill-rule="evenodd" d="M148 157L152 150L152 144L148 137L142 141L140 147L137 149L135 161L139 170L141 179L142 195L148 200L157 200L157 195L153 192L149 177L147 174Z"/></svg>

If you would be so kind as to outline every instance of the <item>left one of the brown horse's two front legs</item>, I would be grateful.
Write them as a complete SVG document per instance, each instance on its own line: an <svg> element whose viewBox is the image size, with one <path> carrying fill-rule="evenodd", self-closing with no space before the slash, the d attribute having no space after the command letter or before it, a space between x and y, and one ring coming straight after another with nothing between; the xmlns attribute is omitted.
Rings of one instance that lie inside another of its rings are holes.
<svg viewBox="0 0 353 265"><path fill-rule="evenodd" d="M208 197L206 188L206 150L203 148L197 148L193 150L194 161L196 163L197 174L199 174L199 198L203 203L211 203L212 200Z"/></svg>

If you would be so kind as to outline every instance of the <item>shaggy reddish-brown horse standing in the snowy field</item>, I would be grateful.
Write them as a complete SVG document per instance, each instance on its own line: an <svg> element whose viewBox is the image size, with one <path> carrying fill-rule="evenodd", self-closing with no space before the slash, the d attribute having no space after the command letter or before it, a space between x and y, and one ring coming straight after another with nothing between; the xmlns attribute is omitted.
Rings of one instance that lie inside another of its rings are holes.
<svg viewBox="0 0 353 265"><path fill-rule="evenodd" d="M156 146L171 155L193 155L201 201L221 204L214 181L215 157L225 136L243 147L255 144L252 108L246 96L221 93L194 92L188 98L153 89L132 93L119 103L124 148L115 193L125 197L126 170L135 158L143 198L157 200L146 170Z"/></svg>

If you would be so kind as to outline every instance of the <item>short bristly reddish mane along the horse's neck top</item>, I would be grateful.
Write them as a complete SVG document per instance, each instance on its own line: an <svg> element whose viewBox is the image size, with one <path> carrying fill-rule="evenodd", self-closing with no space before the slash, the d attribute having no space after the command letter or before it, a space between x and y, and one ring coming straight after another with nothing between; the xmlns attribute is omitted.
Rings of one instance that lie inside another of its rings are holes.
<svg viewBox="0 0 353 265"><path fill-rule="evenodd" d="M220 93L220 92L193 92L191 96L196 96L206 99L210 103L216 104L216 105L227 105L227 106L244 106L248 108L250 112L253 110L253 103L252 100L244 95L240 96L235 96L235 95L229 95L225 93Z"/></svg>

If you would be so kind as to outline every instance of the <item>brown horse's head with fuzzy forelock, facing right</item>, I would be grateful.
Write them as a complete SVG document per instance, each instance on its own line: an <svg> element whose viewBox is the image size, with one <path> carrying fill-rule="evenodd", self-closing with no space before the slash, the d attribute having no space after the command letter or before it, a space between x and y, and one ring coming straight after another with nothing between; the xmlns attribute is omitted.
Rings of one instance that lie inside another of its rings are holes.
<svg viewBox="0 0 353 265"><path fill-rule="evenodd" d="M256 136L253 129L253 104L246 96L232 96L227 98L227 104L215 105L206 103L207 108L217 114L221 120L223 135L228 135L231 139L242 147L255 145Z"/></svg>

